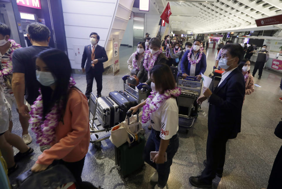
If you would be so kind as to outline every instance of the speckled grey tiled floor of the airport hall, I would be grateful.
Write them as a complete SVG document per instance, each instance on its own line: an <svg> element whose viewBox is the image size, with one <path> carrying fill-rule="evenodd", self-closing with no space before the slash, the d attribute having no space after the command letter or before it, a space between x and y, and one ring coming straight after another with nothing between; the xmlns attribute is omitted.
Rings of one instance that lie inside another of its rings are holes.
<svg viewBox="0 0 282 189"><path fill-rule="evenodd" d="M120 72L113 76L111 74L103 75L103 96L108 96L110 91L122 90L123 75L128 74L127 59L133 52L133 48L120 47ZM207 71L205 75L212 72L216 52L212 49L207 51ZM254 65L251 65L251 71ZM107 70L106 70L107 71ZM85 75L73 75L77 86L84 92L86 90ZM261 80L255 77L255 83L261 88L255 87L255 92L246 96L242 110L242 129L236 139L229 140L226 146L226 163L224 166L223 177L214 179L213 188L218 189L253 189L266 188L268 177L272 168L273 161L282 140L274 134L274 129L281 118L282 102L278 100L282 96L279 88L282 74L264 69ZM95 81L94 81L95 82ZM93 84L95 92L96 85ZM202 104L202 110L208 112L208 103ZM13 132L21 134L21 127L18 121L16 110L13 109ZM185 130L179 129L180 144L176 153L167 187L174 188L194 188L188 181L189 176L197 176L203 170L203 160L206 159L206 140L207 140L207 117L199 113L194 126L186 134ZM149 131L147 125L145 136L148 137ZM11 175L10 179L20 173L27 171L35 163L40 154L38 145L35 142L35 136L30 131L33 142L29 145L35 149L35 155L19 163L20 168ZM107 133L108 134L108 133ZM103 134L99 133L102 137ZM17 150L15 150L15 153ZM129 181L124 181L117 170L110 169L115 166L114 146L110 140L102 142L102 148L96 150L92 144L89 146L86 155L85 165L82 173L84 181L90 181L94 185L101 185L105 189L121 188L153 188L154 183L149 183L149 177L153 169L146 165L141 172L129 177Z"/></svg>

